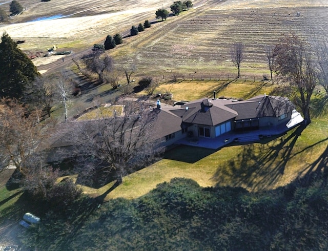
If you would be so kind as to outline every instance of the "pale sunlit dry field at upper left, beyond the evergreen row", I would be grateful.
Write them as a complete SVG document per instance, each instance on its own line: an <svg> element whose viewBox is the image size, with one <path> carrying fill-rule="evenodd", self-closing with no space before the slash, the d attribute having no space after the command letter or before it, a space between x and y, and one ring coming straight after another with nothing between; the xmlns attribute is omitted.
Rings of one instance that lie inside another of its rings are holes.
<svg viewBox="0 0 328 251"><path fill-rule="evenodd" d="M2 25L0 32L7 31L13 39L26 40L20 46L26 50L45 50L54 44L59 48L77 50L90 47L108 34L122 32L154 17L155 10L162 5L158 0L19 2L27 10L10 19L13 24ZM2 8L9 9L9 4ZM30 22L53 15L68 17Z"/></svg>

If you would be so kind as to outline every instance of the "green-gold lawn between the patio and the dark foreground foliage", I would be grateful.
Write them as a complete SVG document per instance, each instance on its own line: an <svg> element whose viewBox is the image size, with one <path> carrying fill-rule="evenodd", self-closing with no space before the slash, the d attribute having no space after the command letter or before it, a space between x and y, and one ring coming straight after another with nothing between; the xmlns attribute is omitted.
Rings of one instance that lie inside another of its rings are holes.
<svg viewBox="0 0 328 251"><path fill-rule="evenodd" d="M193 179L203 187L241 186L249 191L286 185L310 169L315 170L316 161L325 157L322 154L328 143L326 119L327 116L315 119L297 138L291 136L297 130L294 129L267 143L235 145L214 153L186 146L172 149L165 159L125 177L107 199L137 198L175 177ZM281 144L284 140L287 141ZM288 156L286 150L291 150ZM205 157L190 163L188 158L195 160L196 156Z"/></svg>

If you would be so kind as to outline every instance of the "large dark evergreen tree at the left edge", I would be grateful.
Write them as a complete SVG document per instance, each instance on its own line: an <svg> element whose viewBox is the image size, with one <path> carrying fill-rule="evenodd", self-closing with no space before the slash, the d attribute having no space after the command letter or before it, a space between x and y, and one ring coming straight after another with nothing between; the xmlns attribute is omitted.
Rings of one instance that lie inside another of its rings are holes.
<svg viewBox="0 0 328 251"><path fill-rule="evenodd" d="M27 83L39 75L28 56L4 33L0 43L0 97L20 98Z"/></svg>

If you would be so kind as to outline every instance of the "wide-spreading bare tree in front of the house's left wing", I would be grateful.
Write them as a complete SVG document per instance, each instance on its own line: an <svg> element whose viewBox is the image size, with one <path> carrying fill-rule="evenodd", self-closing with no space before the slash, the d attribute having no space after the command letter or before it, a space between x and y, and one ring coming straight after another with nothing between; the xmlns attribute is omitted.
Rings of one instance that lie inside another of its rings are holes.
<svg viewBox="0 0 328 251"><path fill-rule="evenodd" d="M125 175L146 166L163 150L155 140L156 111L141 102L122 104L124 111L114 112L112 118L104 115L98 120L76 123L73 136L78 155L93 156L103 171L115 173L118 184Z"/></svg>

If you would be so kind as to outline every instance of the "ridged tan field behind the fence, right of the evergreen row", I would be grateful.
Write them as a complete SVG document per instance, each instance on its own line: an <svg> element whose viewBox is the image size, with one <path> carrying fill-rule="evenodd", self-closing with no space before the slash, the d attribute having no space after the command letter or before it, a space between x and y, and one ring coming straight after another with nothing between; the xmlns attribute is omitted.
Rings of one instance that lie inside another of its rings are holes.
<svg viewBox="0 0 328 251"><path fill-rule="evenodd" d="M224 4L228 6L229 1ZM143 74L236 74L230 47L241 42L245 46L241 74L263 75L269 73L265 46L273 46L283 33L305 37L311 30L317 34L326 31L326 10L321 7L196 10L174 17L175 22L156 24L109 53L117 64L133 62Z"/></svg>

